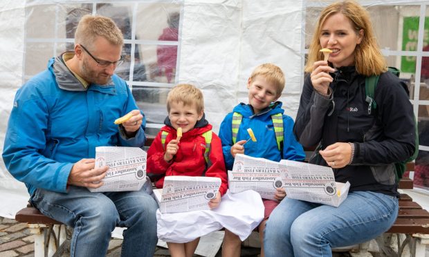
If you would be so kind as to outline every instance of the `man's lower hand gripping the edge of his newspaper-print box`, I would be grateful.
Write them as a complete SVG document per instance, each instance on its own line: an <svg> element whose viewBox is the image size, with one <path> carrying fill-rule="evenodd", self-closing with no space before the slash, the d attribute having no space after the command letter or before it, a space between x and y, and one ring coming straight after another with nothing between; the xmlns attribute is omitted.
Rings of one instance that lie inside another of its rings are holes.
<svg viewBox="0 0 429 257"><path fill-rule="evenodd" d="M101 180L106 176L108 166L95 169L95 159L82 159L71 168L67 184L77 187L96 189L103 185Z"/></svg>

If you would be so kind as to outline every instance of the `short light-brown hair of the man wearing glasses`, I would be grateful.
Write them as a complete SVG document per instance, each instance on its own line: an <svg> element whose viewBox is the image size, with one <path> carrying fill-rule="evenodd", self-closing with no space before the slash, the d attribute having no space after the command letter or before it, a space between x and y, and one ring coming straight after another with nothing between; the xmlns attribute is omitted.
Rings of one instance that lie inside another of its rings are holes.
<svg viewBox="0 0 429 257"><path fill-rule="evenodd" d="M115 46L124 44L122 32L112 19L100 15L84 15L77 24L75 44L91 48L97 37L104 37Z"/></svg>

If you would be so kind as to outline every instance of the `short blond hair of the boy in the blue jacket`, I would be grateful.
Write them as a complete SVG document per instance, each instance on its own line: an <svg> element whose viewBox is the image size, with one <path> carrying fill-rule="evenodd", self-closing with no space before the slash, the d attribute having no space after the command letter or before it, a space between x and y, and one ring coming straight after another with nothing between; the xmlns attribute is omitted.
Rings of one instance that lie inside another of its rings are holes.
<svg viewBox="0 0 429 257"><path fill-rule="evenodd" d="M261 64L257 66L250 75L250 81L258 75L274 84L277 88L277 96L282 95L285 79L284 73L279 66L275 64Z"/></svg>

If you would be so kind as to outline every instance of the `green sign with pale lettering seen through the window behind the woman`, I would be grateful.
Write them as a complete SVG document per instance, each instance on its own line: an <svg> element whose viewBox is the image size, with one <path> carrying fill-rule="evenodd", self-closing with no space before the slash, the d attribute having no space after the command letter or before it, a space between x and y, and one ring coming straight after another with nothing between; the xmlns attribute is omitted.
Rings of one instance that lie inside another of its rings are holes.
<svg viewBox="0 0 429 257"><path fill-rule="evenodd" d="M429 17L426 17L424 37L423 37L423 47L429 44L428 32L429 32ZM419 39L419 17L403 17L402 50L417 51L418 39ZM415 56L401 57L401 72L403 73L416 72Z"/></svg>

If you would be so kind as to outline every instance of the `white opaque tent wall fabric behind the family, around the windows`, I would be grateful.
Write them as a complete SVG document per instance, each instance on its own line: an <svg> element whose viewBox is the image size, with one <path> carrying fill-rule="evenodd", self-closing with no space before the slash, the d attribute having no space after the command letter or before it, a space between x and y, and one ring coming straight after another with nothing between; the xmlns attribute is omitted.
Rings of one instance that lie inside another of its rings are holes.
<svg viewBox="0 0 429 257"><path fill-rule="evenodd" d="M46 3L55 5L97 2L99 1L1 1L0 151L3 151L12 100L24 81L25 49L28 49L25 46L26 6L43 7ZM232 111L233 106L239 102L247 101L246 81L253 68L266 62L277 64L284 70L286 87L280 100L284 103L286 114L295 117L303 80L304 9L305 6L325 6L328 1L117 0L103 2L131 4L174 2L182 5L176 82L188 82L202 89L206 99L207 118L217 132L226 113ZM365 5L392 4L392 1L387 0L360 2ZM403 0L395 3L410 4L411 2ZM429 3L429 1L412 3ZM131 10L131 12L134 11ZM35 33L38 32L35 31ZM46 62L47 59L44 61L43 68ZM13 218L19 209L26 206L28 198L24 184L12 178L1 160L0 216Z"/></svg>

